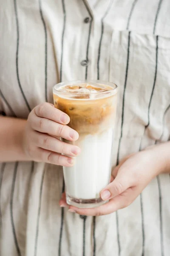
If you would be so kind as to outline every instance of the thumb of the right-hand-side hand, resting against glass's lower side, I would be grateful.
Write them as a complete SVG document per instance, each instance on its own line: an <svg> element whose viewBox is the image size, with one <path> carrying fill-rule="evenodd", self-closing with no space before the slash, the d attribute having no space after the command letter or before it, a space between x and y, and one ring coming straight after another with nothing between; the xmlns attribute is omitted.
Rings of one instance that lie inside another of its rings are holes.
<svg viewBox="0 0 170 256"><path fill-rule="evenodd" d="M122 194L126 189L129 188L129 183L127 177L122 177L122 175L117 175L116 178L105 187L101 192L102 200L108 200L116 195Z"/></svg>

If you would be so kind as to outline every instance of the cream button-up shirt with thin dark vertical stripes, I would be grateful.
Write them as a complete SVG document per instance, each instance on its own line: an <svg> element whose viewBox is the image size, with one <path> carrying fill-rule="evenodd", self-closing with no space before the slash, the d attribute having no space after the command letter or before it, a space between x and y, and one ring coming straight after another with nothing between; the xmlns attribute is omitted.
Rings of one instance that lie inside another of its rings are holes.
<svg viewBox="0 0 170 256"><path fill-rule="evenodd" d="M0 113L27 118L59 81L119 86L113 166L170 139L169 0L0 0ZM144 170L145 171L145 170ZM62 167L0 164L1 256L169 256L170 176L99 217L59 207Z"/></svg>

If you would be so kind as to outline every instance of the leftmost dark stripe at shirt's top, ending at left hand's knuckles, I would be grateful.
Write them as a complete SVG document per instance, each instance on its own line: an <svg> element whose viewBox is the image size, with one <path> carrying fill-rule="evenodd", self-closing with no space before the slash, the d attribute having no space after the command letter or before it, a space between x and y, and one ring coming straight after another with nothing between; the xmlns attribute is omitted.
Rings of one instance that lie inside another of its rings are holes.
<svg viewBox="0 0 170 256"><path fill-rule="evenodd" d="M17 80L18 80L18 85L20 87L20 91L23 95L23 98L26 102L26 105L27 105L27 108L29 111L31 111L31 108L28 104L28 101L26 99L26 96L23 92L23 88L21 86L21 83L20 83L20 77L19 77L19 68L18 68L18 53L19 53L19 39L20 39L20 34L19 34L19 23L18 23L18 13L17 13L17 0L14 0L14 9L15 9L15 20L16 20L16 25L17 25L17 52L16 52L16 70L17 70Z"/></svg>

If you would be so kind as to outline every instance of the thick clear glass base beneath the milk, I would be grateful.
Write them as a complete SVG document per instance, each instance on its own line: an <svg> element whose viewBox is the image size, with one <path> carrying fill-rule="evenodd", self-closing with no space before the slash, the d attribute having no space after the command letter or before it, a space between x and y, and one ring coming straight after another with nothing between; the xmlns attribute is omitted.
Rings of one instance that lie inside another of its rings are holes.
<svg viewBox="0 0 170 256"><path fill-rule="evenodd" d="M79 198L73 198L69 195L66 195L66 201L67 201L67 204L73 205L78 208L95 208L108 202L108 201L103 201L101 198L79 199Z"/></svg>

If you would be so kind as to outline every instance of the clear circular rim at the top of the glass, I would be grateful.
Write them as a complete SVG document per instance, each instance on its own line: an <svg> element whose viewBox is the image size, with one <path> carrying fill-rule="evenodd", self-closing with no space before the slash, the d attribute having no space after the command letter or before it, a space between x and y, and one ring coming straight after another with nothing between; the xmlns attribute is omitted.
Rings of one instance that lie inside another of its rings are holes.
<svg viewBox="0 0 170 256"><path fill-rule="evenodd" d="M71 84L82 84L82 83L91 83L91 84L106 84L106 85L110 85L111 87L113 87L113 89L111 90L107 90L107 91L104 91L104 92L98 92L98 93L95 93L95 94L105 94L105 93L110 93L110 92L113 92L113 91L117 91L117 88L118 86L113 83L113 82L110 82L110 81L102 81L102 80L73 80L73 81L65 81L65 82L59 82L58 84L55 84L53 86L53 90L54 92L57 91L59 93L63 93L63 94L73 94L73 95L77 95L77 93L70 93L70 92L62 92L60 90L57 90L60 86L62 85L71 85ZM88 93L81 93L81 95L88 95Z"/></svg>

